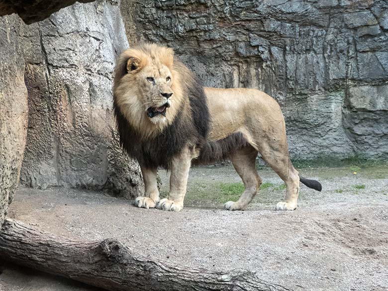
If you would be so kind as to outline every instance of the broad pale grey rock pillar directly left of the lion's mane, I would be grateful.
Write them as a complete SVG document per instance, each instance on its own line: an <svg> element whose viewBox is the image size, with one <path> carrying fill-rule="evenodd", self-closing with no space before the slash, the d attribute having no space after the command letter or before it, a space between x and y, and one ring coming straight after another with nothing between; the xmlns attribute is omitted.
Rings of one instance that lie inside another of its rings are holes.
<svg viewBox="0 0 388 291"><path fill-rule="evenodd" d="M115 59L128 47L118 4L75 3L26 27L24 185L140 194L138 165L122 153L112 113Z"/></svg>

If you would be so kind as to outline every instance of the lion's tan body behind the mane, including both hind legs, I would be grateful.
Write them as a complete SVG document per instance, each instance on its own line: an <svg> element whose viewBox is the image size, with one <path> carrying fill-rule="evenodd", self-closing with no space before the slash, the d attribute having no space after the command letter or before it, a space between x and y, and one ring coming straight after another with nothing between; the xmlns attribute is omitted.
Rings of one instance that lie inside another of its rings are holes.
<svg viewBox="0 0 388 291"><path fill-rule="evenodd" d="M295 209L299 176L289 158L286 124L278 102L256 89L205 88L205 93L212 124L208 139L219 140L241 132L252 147L251 150L241 150L231 158L246 190L239 201L229 201L225 208L244 209L259 190L260 185L255 189L255 179L260 184L261 179L255 170L254 160L257 152L260 152L287 186L286 200L279 202L276 209Z"/></svg>

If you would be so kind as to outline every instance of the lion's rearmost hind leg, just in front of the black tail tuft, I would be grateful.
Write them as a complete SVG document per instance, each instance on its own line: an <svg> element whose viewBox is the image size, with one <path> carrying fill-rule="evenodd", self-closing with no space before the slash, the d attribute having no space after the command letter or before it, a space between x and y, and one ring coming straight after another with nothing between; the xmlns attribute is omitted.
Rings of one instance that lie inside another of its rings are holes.
<svg viewBox="0 0 388 291"><path fill-rule="evenodd" d="M291 164L289 151L286 146L270 147L262 145L260 153L268 165L286 183L286 199L276 204L276 210L294 210L299 194L299 174ZM282 150L283 149L283 150Z"/></svg>

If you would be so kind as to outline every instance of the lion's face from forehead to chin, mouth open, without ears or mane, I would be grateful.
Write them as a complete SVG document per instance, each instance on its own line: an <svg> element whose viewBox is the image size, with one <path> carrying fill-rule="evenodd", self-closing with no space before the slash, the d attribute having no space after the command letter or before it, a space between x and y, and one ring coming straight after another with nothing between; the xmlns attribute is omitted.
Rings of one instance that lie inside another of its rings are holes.
<svg viewBox="0 0 388 291"><path fill-rule="evenodd" d="M170 69L163 64L151 63L137 74L142 94L139 97L147 117L153 123L166 122L166 115L174 102Z"/></svg>

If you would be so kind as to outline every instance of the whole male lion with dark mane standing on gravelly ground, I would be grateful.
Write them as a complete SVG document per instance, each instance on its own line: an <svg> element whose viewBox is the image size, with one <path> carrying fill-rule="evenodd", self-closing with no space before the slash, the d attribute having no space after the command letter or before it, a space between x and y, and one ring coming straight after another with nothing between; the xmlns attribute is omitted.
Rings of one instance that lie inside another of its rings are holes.
<svg viewBox="0 0 388 291"><path fill-rule="evenodd" d="M299 181L320 191L314 180L293 168L279 104L255 89L203 88L194 74L174 60L171 48L143 44L124 51L114 77L114 111L120 143L136 158L143 174L145 196L138 207L180 211L191 164L230 159L245 191L225 209L241 210L262 184L255 169L263 159L286 183L286 200L277 210L293 210ZM157 168L171 171L170 193L160 199Z"/></svg>

